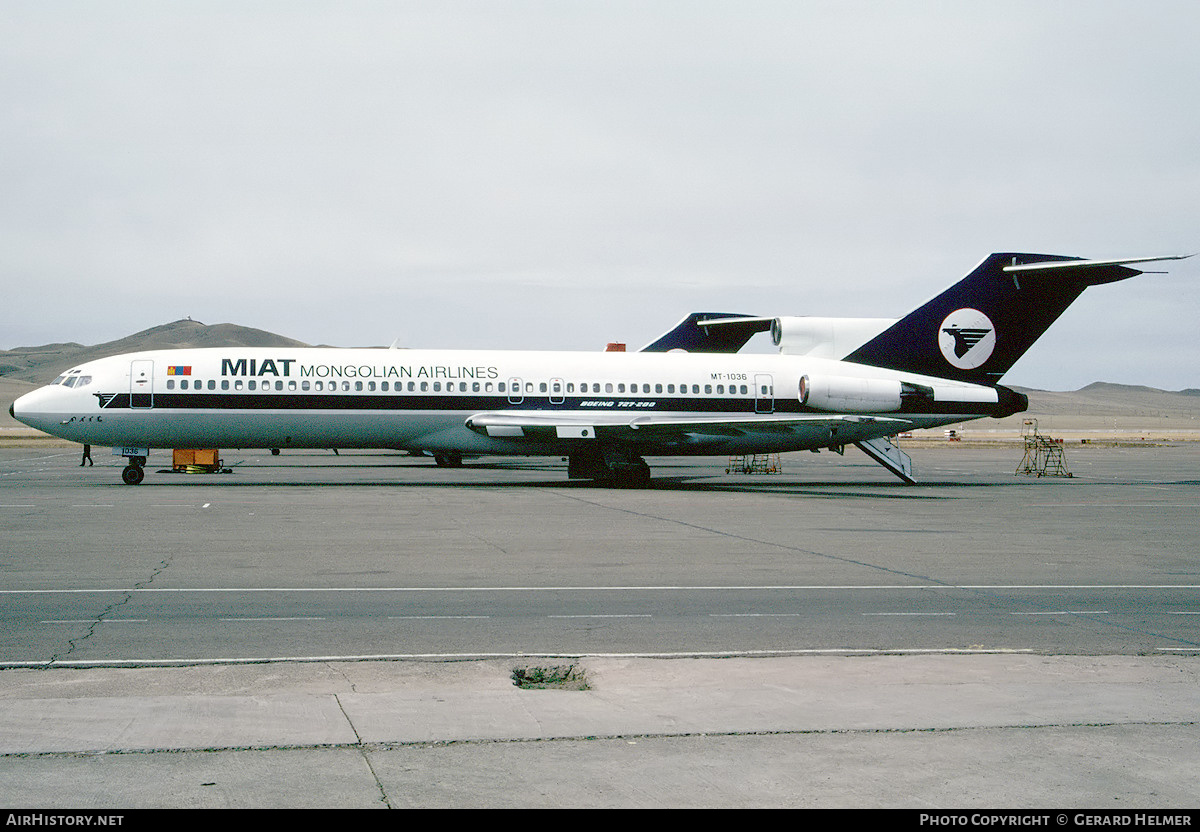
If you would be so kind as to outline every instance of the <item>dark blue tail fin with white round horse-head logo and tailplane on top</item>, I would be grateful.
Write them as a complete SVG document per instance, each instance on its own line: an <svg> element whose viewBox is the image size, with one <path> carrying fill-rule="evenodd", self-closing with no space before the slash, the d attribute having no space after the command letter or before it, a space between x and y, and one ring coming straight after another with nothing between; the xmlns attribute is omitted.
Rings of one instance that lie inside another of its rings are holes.
<svg viewBox="0 0 1200 832"><path fill-rule="evenodd" d="M889 370L992 384L1088 286L1140 275L1127 263L991 255L974 271L845 358Z"/></svg>

